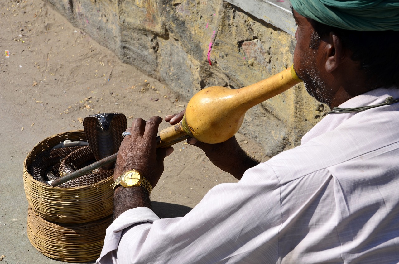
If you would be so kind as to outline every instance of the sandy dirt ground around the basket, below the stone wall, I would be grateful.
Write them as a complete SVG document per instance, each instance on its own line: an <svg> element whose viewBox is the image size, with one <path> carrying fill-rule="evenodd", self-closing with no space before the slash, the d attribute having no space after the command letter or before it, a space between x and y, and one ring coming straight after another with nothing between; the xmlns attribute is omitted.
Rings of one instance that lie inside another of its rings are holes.
<svg viewBox="0 0 399 264"><path fill-rule="evenodd" d="M164 117L187 102L41 0L2 0L0 18L0 264L57 263L26 235L22 166L30 150L54 134L83 129L81 120L90 114L120 112L130 126L132 118ZM265 159L259 145L240 134L237 139L251 156ZM183 216L211 187L234 181L194 146L174 148L151 195L160 217Z"/></svg>

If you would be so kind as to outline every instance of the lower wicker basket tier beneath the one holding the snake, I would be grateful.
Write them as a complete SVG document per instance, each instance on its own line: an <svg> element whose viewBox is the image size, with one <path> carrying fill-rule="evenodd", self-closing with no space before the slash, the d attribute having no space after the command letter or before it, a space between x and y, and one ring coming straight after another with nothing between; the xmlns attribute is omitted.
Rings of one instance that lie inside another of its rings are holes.
<svg viewBox="0 0 399 264"><path fill-rule="evenodd" d="M46 221L28 208L28 238L41 254L65 262L96 260L103 248L105 231L112 217L84 224Z"/></svg>

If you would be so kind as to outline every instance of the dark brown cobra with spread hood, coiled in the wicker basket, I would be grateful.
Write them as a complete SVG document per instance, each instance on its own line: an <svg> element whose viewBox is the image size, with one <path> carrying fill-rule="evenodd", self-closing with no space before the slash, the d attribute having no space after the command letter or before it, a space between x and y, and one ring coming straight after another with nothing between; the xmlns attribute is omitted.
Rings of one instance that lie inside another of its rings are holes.
<svg viewBox="0 0 399 264"><path fill-rule="evenodd" d="M57 179L96 160L106 158L119 150L122 132L126 130L124 114L95 114L83 120L83 129L89 146L74 146L43 151L32 163L30 175L37 181L50 185ZM113 164L97 169L59 187L91 185L113 175ZM50 185L51 186L51 185Z"/></svg>

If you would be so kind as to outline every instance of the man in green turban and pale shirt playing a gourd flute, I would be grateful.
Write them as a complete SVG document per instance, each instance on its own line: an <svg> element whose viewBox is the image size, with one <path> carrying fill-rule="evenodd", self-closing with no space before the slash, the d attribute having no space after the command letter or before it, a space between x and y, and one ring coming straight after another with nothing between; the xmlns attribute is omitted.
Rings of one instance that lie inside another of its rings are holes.
<svg viewBox="0 0 399 264"><path fill-rule="evenodd" d="M399 263L399 4L291 2L294 69L310 95L340 108L301 146L261 164L234 137L189 138L239 182L215 186L172 219L150 209L149 186L172 152L155 148L161 118L134 120L114 178L136 169L150 185L117 181L116 219L97 263Z"/></svg>

